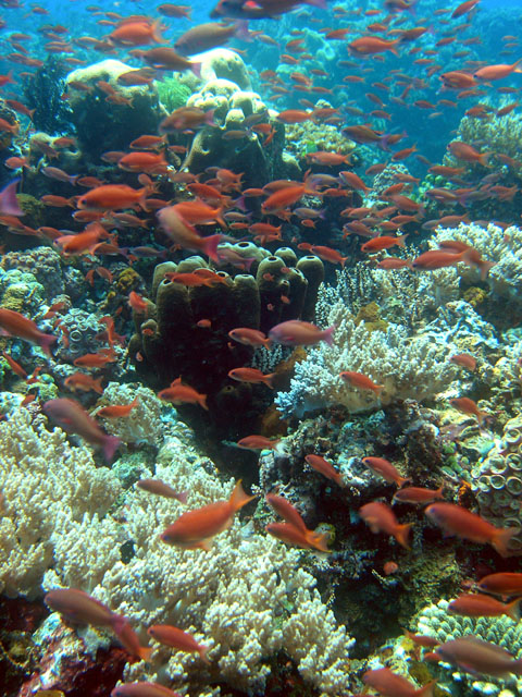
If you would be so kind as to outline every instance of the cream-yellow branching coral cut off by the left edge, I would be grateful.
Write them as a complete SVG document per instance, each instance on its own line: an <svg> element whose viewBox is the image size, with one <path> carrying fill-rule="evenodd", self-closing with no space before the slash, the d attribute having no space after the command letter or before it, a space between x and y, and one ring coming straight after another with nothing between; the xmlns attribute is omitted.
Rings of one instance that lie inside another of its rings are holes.
<svg viewBox="0 0 522 697"><path fill-rule="evenodd" d="M57 523L74 529L85 514L103 516L120 487L87 448L33 425L17 408L0 424L0 592L34 598L53 564Z"/></svg>

